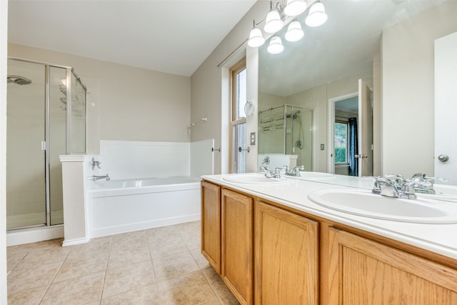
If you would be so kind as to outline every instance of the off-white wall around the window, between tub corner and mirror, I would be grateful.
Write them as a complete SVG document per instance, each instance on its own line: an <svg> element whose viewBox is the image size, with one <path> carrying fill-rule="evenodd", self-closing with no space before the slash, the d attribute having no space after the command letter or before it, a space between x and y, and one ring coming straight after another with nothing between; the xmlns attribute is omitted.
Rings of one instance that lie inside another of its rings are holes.
<svg viewBox="0 0 457 305"><path fill-rule="evenodd" d="M229 79L227 69L231 67L231 64L234 64L233 59L236 56L243 55L246 44L231 56L230 59L232 60L224 61L224 59L246 40L249 31L252 29L252 20L263 18L268 13L268 8L267 1L257 1L191 76L191 119L196 120L201 116L208 116L207 124L201 124L198 128L192 129L191 141L214 139L215 147L221 147L222 153L214 155L215 174L228 171L226 166L229 162L227 138L229 131L229 104L227 103L229 92L226 88ZM246 56L246 66L248 71L251 69L251 72L255 74L257 70L256 61L258 60L257 49L250 48L248 52L251 53ZM218 67L219 64L221 64L220 67ZM248 99L253 99L257 111L257 84L250 84L251 81L255 80L256 76L248 75ZM253 131L257 133L256 120L256 116L250 116L246 119L248 134ZM256 168L256 150L256 146L251 146L252 153L248 154L248 171Z"/></svg>

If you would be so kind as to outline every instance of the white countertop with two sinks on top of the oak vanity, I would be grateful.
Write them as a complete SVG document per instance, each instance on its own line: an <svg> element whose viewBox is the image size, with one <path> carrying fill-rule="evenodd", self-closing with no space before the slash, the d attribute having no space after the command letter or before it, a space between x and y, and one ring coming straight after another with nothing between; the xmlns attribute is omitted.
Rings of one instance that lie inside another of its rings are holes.
<svg viewBox="0 0 457 305"><path fill-rule="evenodd" d="M319 189L371 189L373 179L336 175L331 179L306 181L284 176L287 181L281 184L241 184L226 181L224 176L229 174L208 175L202 178L308 214L457 259L457 224L414 224L357 216L320 206L307 197L308 193Z"/></svg>

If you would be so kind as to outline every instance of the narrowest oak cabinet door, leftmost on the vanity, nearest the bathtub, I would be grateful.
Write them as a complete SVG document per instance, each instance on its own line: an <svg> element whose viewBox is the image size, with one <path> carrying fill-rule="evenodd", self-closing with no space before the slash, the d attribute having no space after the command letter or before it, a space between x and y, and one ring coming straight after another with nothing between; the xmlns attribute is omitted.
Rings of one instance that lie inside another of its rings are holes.
<svg viewBox="0 0 457 305"><path fill-rule="evenodd" d="M201 254L221 274L221 187L201 182Z"/></svg>

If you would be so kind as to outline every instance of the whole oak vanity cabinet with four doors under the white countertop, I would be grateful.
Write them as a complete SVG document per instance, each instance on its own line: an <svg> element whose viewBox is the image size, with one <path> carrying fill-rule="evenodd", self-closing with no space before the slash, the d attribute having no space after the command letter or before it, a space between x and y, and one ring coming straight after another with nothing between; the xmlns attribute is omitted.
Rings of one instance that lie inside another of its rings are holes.
<svg viewBox="0 0 457 305"><path fill-rule="evenodd" d="M202 182L201 250L241 304L457 304L457 261Z"/></svg>

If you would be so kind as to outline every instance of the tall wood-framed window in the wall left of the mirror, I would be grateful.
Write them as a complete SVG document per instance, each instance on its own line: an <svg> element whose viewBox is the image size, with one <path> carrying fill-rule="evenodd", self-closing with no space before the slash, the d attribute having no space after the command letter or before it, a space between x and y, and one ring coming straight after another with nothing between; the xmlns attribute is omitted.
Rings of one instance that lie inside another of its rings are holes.
<svg viewBox="0 0 457 305"><path fill-rule="evenodd" d="M246 59L231 69L231 171L246 172ZM239 149L241 148L241 151Z"/></svg>

